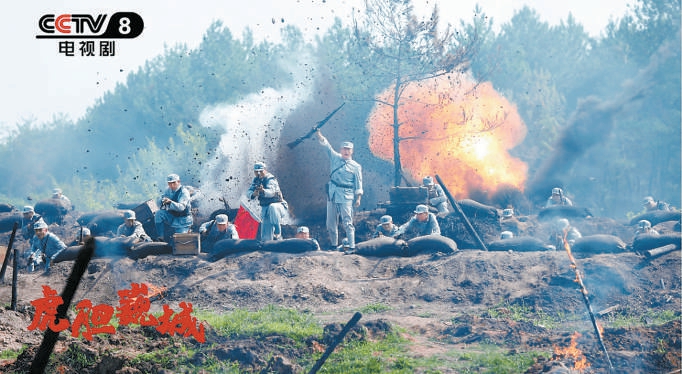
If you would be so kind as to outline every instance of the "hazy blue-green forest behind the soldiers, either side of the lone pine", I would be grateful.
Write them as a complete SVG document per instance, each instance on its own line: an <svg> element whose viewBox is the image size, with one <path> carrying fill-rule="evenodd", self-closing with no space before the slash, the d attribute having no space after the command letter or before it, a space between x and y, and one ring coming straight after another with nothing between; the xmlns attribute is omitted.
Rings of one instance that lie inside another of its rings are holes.
<svg viewBox="0 0 682 374"><path fill-rule="evenodd" d="M556 183L599 215L624 217L638 211L646 195L680 206L679 0L638 0L598 38L570 15L549 25L524 7L494 29L485 9L476 11L449 30L455 38L444 52L464 51L455 69L491 82L516 105L527 134L512 153L527 163L529 178L547 167L557 148L570 147L562 139L571 124L599 112L576 130L585 143L565 153L571 160L552 175ZM248 30L237 38L216 21L199 46L167 48L82 118L55 115L47 124L20 124L0 145L0 198L20 206L59 186L79 209L96 210L156 196L171 171L200 185L202 168L216 159L225 134L200 125L202 112L266 89L309 87L312 99L283 120L285 127L294 120L312 126L330 108L350 102L340 134L362 144L369 137L371 98L395 84L395 77L378 73L383 66L376 43L368 42L372 35L362 25L337 21L315 42L290 26L275 44L255 42ZM307 70L293 73L302 61ZM391 168L366 147L357 147L356 158L365 170ZM376 192L375 198L387 196Z"/></svg>

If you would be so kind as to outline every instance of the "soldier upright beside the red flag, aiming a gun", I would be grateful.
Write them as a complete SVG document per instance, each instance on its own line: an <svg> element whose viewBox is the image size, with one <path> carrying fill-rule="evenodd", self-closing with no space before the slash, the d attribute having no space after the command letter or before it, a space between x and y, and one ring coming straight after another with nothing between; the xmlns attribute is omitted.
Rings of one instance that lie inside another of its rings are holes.
<svg viewBox="0 0 682 374"><path fill-rule="evenodd" d="M261 207L260 239L282 239L282 220L286 216L288 205L282 197L282 191L274 175L268 173L265 163L253 165L256 175L246 194L250 200L258 199Z"/></svg>

